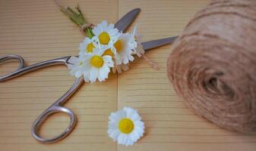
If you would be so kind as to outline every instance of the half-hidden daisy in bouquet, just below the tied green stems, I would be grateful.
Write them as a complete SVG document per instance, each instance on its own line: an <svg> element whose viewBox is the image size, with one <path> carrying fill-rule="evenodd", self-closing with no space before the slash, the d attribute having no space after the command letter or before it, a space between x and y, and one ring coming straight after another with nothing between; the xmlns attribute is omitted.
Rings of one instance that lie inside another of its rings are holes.
<svg viewBox="0 0 256 151"><path fill-rule="evenodd" d="M89 39L89 38L85 38L84 42L80 43L79 46L79 55L84 55L86 53L92 53L93 52L93 48L96 48L93 45L93 39Z"/></svg>

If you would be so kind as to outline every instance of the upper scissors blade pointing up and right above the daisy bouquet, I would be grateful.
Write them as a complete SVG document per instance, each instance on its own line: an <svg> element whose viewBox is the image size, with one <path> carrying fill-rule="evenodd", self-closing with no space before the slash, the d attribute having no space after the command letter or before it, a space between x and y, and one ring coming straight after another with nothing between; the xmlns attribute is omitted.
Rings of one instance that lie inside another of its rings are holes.
<svg viewBox="0 0 256 151"><path fill-rule="evenodd" d="M119 29L120 32L125 31L128 26L134 21L138 14L140 14L141 8L135 8L129 11L125 16L120 18L120 20L115 23L115 28Z"/></svg>

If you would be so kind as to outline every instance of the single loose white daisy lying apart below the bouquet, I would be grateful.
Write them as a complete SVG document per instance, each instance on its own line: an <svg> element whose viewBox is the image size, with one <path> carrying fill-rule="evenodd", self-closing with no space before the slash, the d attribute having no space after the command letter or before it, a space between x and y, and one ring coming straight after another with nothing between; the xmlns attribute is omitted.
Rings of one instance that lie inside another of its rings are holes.
<svg viewBox="0 0 256 151"><path fill-rule="evenodd" d="M119 144L133 145L144 134L144 122L135 109L125 107L110 114L108 134Z"/></svg>

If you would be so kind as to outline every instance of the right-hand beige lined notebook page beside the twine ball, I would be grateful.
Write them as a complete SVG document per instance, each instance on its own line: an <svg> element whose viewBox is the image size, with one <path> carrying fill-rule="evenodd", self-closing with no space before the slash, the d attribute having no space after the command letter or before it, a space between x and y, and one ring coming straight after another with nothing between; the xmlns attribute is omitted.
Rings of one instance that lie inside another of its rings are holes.
<svg viewBox="0 0 256 151"><path fill-rule="evenodd" d="M179 35L188 20L207 0L119 1L119 17L131 8L141 8L137 18L144 40ZM256 137L223 130L194 115L185 106L166 77L170 45L148 51L146 56L161 66L151 69L144 60L135 60L131 69L118 77L119 109L132 106L140 112L146 134L134 146L118 146L119 151L135 150L255 150Z"/></svg>

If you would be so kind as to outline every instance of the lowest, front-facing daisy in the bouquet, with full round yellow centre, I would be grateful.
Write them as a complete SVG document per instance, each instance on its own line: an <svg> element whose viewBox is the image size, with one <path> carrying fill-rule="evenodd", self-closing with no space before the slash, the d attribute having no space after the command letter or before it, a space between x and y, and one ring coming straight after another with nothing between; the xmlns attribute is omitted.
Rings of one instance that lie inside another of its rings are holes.
<svg viewBox="0 0 256 151"><path fill-rule="evenodd" d="M84 54L85 82L96 82L96 79L103 82L108 78L109 68L114 66L114 62L111 56L103 56L103 52L100 48L94 48L92 53Z"/></svg>

